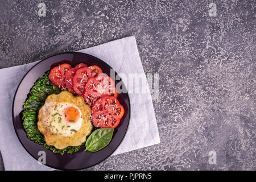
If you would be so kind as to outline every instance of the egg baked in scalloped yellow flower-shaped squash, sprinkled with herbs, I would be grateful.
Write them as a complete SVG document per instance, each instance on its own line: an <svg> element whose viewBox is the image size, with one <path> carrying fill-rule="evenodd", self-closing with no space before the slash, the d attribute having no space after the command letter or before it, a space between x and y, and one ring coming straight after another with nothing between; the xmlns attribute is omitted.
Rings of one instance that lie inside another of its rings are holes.
<svg viewBox="0 0 256 182"><path fill-rule="evenodd" d="M48 146L80 146L92 130L90 106L67 91L51 94L39 110L38 129Z"/></svg>

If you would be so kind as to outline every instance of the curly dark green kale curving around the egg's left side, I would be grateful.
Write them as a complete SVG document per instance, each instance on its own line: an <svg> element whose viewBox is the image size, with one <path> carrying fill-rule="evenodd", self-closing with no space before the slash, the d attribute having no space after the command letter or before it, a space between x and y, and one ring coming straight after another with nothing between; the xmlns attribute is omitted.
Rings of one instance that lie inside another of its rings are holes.
<svg viewBox="0 0 256 182"><path fill-rule="evenodd" d="M24 102L22 119L23 127L26 130L27 137L33 140L35 143L43 144L45 148L53 151L54 153L72 154L73 152L79 151L81 146L78 147L67 147L63 150L59 150L54 146L48 146L44 140L44 135L38 130L38 111L46 101L47 96L50 94L59 94L61 90L52 84L49 80L49 71L39 78L34 86L30 89L27 100Z"/></svg>

